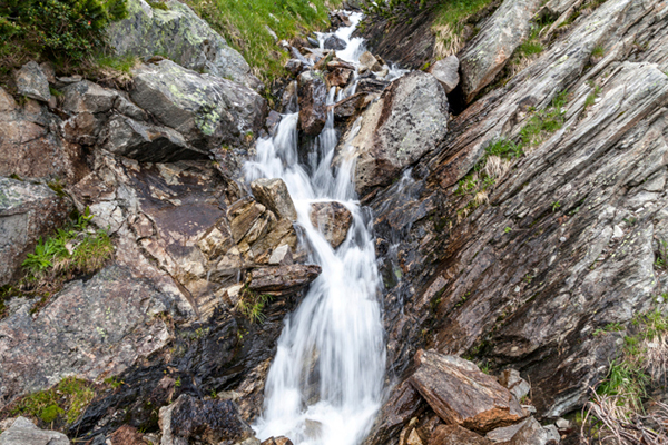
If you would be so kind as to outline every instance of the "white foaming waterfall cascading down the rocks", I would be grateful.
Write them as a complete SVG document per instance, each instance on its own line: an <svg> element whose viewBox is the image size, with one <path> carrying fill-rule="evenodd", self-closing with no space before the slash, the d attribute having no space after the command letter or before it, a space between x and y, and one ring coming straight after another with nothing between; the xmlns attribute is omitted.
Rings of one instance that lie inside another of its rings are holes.
<svg viewBox="0 0 668 445"><path fill-rule="evenodd" d="M348 48L358 18L352 21L353 27L337 31ZM360 39L354 51L361 46ZM353 92L354 88L346 95ZM328 103L334 96L332 89ZM311 147L307 168L297 161L297 118L286 115L273 139L257 142L246 179L285 181L311 248L310 260L322 267L322 274L285 320L265 385L264 413L254 428L263 441L287 436L295 445L356 445L380 408L385 373L372 220L356 200L354 157L344 154L338 168L332 169L337 145L333 112ZM312 202L331 200L353 215L347 238L336 250L308 218Z"/></svg>

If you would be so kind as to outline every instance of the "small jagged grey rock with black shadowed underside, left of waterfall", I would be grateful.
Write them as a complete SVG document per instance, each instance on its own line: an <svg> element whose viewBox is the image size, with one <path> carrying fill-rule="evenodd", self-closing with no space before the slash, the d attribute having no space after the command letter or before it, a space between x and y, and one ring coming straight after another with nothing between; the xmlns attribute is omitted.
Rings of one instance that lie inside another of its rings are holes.
<svg viewBox="0 0 668 445"><path fill-rule="evenodd" d="M202 159L205 150L196 149L183 136L166 127L145 125L126 116L112 117L102 135L106 150L141 162L169 162Z"/></svg>

